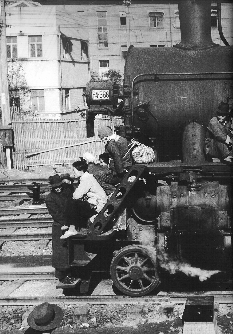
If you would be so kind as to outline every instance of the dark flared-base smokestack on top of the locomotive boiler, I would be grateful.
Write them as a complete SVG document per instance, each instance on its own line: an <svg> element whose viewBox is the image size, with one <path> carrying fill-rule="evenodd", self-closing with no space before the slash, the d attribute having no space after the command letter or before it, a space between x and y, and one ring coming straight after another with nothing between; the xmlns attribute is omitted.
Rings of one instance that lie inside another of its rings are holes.
<svg viewBox="0 0 233 334"><path fill-rule="evenodd" d="M175 47L202 50L218 46L211 39L211 0L178 1L181 42Z"/></svg>

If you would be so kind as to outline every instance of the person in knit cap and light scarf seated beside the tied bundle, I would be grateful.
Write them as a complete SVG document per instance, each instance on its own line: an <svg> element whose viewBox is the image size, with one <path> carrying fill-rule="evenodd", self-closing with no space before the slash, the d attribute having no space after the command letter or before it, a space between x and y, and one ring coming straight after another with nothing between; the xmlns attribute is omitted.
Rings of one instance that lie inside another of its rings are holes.
<svg viewBox="0 0 233 334"><path fill-rule="evenodd" d="M109 127L99 129L98 137L105 144L105 153L109 154L108 169L94 173L95 179L109 195L115 190L115 185L121 182L127 169L132 166L132 158L128 152L128 141L119 135L113 135Z"/></svg>

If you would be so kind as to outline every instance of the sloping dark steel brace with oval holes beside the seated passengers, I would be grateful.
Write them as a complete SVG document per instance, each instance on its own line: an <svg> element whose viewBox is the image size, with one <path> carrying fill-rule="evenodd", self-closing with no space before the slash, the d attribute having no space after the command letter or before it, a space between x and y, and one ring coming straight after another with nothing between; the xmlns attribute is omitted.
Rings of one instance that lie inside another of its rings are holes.
<svg viewBox="0 0 233 334"><path fill-rule="evenodd" d="M109 239L109 237L116 232L113 228L109 228L109 230L104 233L103 230L108 222L114 217L115 213L119 209L119 206L123 203L129 191L141 177L144 170L144 165L134 165L131 167L129 172L124 176L115 189L114 193L107 200L103 209L96 216L93 223L90 220L88 221L87 240Z"/></svg>

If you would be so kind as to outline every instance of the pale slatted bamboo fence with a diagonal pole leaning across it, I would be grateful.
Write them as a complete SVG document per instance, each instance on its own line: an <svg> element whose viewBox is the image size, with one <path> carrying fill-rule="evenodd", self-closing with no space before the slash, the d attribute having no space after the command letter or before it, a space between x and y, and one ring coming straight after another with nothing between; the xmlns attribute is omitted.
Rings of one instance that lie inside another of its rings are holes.
<svg viewBox="0 0 233 334"><path fill-rule="evenodd" d="M12 121L14 133L13 166L34 169L38 166L71 166L84 152L96 158L103 153L97 136L102 126L121 125L119 117L94 120L95 136L86 138L86 120L20 120Z"/></svg>

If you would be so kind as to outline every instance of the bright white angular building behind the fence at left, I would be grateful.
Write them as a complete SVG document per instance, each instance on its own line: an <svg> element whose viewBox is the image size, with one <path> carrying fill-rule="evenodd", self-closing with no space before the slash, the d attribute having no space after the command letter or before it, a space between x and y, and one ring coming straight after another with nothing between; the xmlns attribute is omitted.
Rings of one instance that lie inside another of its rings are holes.
<svg viewBox="0 0 233 334"><path fill-rule="evenodd" d="M88 34L62 6L16 1L5 7L11 105L61 114L85 106Z"/></svg>

